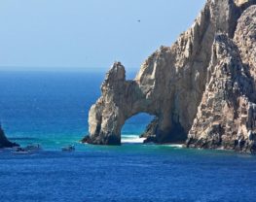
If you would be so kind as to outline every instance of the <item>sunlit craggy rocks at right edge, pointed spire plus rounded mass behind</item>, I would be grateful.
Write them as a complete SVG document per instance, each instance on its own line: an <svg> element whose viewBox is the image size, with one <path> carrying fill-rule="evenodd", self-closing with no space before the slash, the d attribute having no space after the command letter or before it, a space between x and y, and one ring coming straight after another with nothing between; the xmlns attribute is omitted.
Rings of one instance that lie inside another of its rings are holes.
<svg viewBox="0 0 256 202"><path fill-rule="evenodd" d="M256 6L238 19L234 40L217 36L188 147L255 150Z"/></svg>

